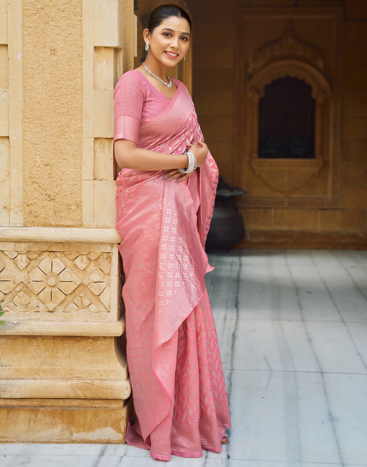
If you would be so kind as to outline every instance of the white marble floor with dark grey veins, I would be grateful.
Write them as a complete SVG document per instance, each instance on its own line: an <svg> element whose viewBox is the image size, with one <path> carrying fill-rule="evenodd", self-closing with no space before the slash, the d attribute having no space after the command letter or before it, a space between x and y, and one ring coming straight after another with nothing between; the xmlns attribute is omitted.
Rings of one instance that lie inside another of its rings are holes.
<svg viewBox="0 0 367 467"><path fill-rule="evenodd" d="M206 275L230 444L171 466L367 467L367 252L238 250ZM0 444L1 467L149 467L120 445Z"/></svg>

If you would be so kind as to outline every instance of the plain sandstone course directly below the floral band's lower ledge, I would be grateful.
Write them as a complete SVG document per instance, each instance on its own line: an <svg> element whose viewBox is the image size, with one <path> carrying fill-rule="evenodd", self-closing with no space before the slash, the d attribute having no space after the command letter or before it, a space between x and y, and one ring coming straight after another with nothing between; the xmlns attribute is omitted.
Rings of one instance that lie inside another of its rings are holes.
<svg viewBox="0 0 367 467"><path fill-rule="evenodd" d="M33 378L38 381L65 380L65 383L60 383L60 388L70 386L67 380L76 375L79 379L101 381L105 385L107 381L115 381L116 383L126 381L128 376L126 357L124 352L121 352L119 359L117 358L115 340L124 340L124 338L0 336L2 349L0 379L2 384L7 383L6 380L9 379L14 380L14 384L16 380L29 380L27 391L33 391L33 393L37 390L38 385L37 381L32 383ZM42 387L46 388L48 383L42 384ZM71 385L70 387L76 386ZM3 394L2 391L1 394ZM17 397L27 397L18 393L14 394ZM81 397L99 398L98 396L84 395ZM107 398L120 399L122 397L107 396Z"/></svg>

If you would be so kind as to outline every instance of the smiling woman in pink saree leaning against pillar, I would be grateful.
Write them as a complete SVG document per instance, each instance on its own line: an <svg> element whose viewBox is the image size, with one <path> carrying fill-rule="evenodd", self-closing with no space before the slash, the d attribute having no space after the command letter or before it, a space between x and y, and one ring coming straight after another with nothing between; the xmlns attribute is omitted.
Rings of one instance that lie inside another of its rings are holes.
<svg viewBox="0 0 367 467"><path fill-rule="evenodd" d="M218 168L186 86L168 77L189 50L190 17L162 5L143 34L145 62L114 91L114 151L123 167L116 229L137 415L126 441L155 459L200 457L202 448L219 452L231 426L204 281L214 269L204 246Z"/></svg>

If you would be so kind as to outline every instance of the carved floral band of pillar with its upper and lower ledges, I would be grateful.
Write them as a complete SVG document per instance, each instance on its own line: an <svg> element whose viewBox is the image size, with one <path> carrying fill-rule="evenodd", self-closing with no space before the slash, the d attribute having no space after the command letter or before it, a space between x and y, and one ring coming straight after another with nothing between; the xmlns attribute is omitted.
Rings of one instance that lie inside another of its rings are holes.
<svg viewBox="0 0 367 467"><path fill-rule="evenodd" d="M121 335L120 237L111 230L0 228L0 333Z"/></svg>

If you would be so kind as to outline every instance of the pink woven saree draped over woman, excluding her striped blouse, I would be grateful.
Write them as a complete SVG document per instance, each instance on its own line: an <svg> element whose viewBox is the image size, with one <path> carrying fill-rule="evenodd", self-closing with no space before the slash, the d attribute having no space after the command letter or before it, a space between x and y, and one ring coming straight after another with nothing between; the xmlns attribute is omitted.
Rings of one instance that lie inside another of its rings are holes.
<svg viewBox="0 0 367 467"><path fill-rule="evenodd" d="M203 141L183 83L157 117L142 120L138 147L183 154ZM126 276L127 364L137 420L129 445L155 459L221 450L231 426L212 309L204 276L212 268L205 239L218 168L209 153L187 180L162 171L123 169L116 180L119 251Z"/></svg>

